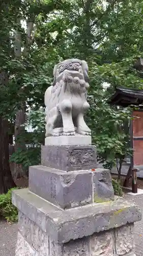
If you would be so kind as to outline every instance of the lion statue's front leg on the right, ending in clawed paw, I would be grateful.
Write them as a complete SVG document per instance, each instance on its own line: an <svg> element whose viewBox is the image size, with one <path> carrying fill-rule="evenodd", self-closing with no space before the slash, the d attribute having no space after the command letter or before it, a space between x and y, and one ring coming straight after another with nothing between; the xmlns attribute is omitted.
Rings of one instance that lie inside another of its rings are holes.
<svg viewBox="0 0 143 256"><path fill-rule="evenodd" d="M90 108L90 105L87 101L84 102L81 112L77 116L77 133L82 135L91 135L91 130L84 121L84 112Z"/></svg>

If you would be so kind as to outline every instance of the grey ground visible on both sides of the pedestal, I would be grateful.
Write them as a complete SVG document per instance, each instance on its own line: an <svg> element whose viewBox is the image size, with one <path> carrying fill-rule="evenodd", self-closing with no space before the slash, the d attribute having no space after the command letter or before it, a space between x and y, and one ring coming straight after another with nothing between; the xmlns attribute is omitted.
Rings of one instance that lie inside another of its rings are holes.
<svg viewBox="0 0 143 256"><path fill-rule="evenodd" d="M143 253L143 195L131 196L124 195L125 199L133 200L136 205L141 208L142 220L135 223L135 244L136 256L142 256ZM16 234L18 225L7 224L5 221L0 220L0 255L1 256L14 256L16 245Z"/></svg>

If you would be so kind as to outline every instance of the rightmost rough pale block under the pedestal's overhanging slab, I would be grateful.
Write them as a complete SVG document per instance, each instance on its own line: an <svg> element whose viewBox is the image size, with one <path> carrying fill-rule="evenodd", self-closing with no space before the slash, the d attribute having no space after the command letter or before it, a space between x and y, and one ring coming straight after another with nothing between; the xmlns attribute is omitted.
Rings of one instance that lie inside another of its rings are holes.
<svg viewBox="0 0 143 256"><path fill-rule="evenodd" d="M135 251L134 245L134 225L126 225L117 228L115 231L116 256L133 255Z"/></svg>

